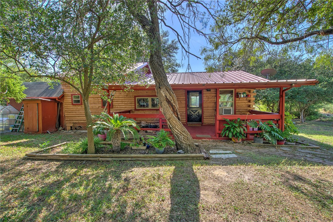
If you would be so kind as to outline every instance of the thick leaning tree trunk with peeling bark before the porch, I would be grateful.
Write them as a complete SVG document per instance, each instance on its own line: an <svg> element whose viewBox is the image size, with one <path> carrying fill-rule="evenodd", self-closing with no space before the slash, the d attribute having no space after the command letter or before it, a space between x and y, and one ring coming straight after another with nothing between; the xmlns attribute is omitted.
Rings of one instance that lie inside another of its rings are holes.
<svg viewBox="0 0 333 222"><path fill-rule="evenodd" d="M147 34L151 45L155 46L151 48L149 62L155 80L156 94L159 98L160 106L162 107L162 113L166 117L167 124L174 136L177 149L191 152L195 149L194 142L191 135L180 121L177 98L167 81L163 66L160 25L157 16L157 2L151 1L148 2L148 5L152 24L150 29L147 30Z"/></svg>

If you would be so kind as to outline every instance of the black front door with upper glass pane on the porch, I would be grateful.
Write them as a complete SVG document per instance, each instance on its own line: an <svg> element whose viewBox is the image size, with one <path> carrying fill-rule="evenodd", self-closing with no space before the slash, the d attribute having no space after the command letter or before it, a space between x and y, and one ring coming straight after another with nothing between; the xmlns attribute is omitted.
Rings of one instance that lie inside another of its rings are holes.
<svg viewBox="0 0 333 222"><path fill-rule="evenodd" d="M201 90L187 91L187 122L200 122L202 114Z"/></svg>

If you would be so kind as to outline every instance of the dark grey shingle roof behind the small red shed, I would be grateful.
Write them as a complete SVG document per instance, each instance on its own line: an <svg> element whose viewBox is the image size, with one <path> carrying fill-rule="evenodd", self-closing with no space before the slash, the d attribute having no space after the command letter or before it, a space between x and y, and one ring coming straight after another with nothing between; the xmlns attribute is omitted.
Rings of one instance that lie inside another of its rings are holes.
<svg viewBox="0 0 333 222"><path fill-rule="evenodd" d="M46 82L25 82L23 85L27 88L23 91L27 97L60 97L64 92L59 83L54 83L53 88Z"/></svg>

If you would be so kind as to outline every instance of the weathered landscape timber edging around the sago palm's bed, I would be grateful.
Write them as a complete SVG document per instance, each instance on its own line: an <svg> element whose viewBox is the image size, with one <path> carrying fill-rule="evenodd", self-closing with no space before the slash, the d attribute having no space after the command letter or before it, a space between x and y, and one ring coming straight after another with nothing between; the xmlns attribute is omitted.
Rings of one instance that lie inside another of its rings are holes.
<svg viewBox="0 0 333 222"><path fill-rule="evenodd" d="M98 160L98 161L111 161L111 160L194 160L204 159L203 153L190 153L190 154L51 154L43 153L45 150L50 150L55 147L65 145L63 142L57 145L47 147L42 150L36 150L31 153L26 153L26 159L50 159L50 160ZM74 143L74 142L73 142Z"/></svg>

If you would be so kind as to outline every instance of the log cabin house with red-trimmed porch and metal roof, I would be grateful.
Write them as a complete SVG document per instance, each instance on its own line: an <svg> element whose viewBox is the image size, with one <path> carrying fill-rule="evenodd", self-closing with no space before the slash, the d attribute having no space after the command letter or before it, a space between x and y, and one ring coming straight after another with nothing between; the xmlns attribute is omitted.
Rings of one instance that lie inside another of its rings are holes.
<svg viewBox="0 0 333 222"><path fill-rule="evenodd" d="M99 95L89 98L92 114L107 111L120 113L137 120L142 130L169 130L156 96L153 75L148 63L138 63L137 70L145 70L143 77L150 84L126 82L133 91L123 91L120 85L109 83L106 89L115 93L111 103ZM284 95L292 87L315 85L317 80L270 81L243 71L168 73L167 79L177 97L181 122L195 139L225 139L220 136L223 118L242 120L273 120L284 129ZM66 130L85 130L86 120L82 98L75 90L62 83L64 90L64 116ZM279 88L279 112L253 109L256 89ZM243 97L240 96L242 93ZM247 126L247 139L256 131Z"/></svg>

